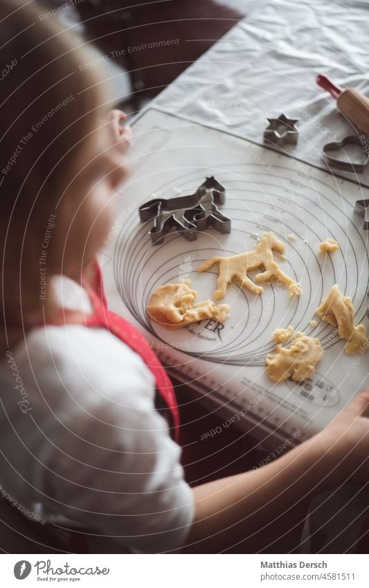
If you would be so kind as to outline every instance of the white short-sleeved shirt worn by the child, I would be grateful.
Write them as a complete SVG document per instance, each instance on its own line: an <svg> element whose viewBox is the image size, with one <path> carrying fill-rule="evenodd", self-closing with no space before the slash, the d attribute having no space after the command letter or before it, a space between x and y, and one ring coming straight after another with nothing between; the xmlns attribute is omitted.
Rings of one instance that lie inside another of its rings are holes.
<svg viewBox="0 0 369 588"><path fill-rule="evenodd" d="M91 312L73 280L53 287L65 308ZM20 512L132 551L184 544L192 492L141 357L104 328L37 327L0 362L0 386L0 490Z"/></svg>

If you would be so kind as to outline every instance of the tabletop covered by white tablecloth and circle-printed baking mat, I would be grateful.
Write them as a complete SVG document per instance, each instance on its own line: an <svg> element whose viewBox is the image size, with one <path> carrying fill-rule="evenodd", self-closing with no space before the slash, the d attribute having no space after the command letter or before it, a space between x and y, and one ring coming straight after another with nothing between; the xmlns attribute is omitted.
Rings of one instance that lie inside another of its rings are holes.
<svg viewBox="0 0 369 588"><path fill-rule="evenodd" d="M249 3L248 17L136 117L131 175L102 265L111 308L145 332L172 375L188 382L210 407L221 405L224 427L235 423L275 448L314 434L369 384L366 359L354 364L345 356L326 323L317 330L309 326L321 298L339 282L352 296L356 322L362 319L368 327L368 235L353 206L368 197L369 172L355 183L350 174L325 170L324 143L348 134L350 123L314 82L324 71L340 84L368 89L360 12L368 9L351 2L348 13L334 4L333 17L332 3L325 1L262 6ZM284 153L261 146L265 119L280 112L300 119L298 145ZM227 188L224 212L233 218L231 235L211 230L192 243L174 235L166 247L152 247L148 227L138 221L139 204L153 191L165 197L190 193L209 174ZM251 249L256 234L267 229L286 244L289 271L305 292L298 303L271 287L262 308L260 298L233 288L226 299L233 319L222 332L211 322L192 332L164 332L148 321L145 305L154 287L190 277L199 299L208 298L215 275L200 279L199 261L214 249L227 254ZM289 233L296 233L296 243L289 242ZM341 252L319 258L318 242L327 236L339 240ZM273 384L264 373L271 332L289 323L314 333L326 348L316 377L303 385Z"/></svg>

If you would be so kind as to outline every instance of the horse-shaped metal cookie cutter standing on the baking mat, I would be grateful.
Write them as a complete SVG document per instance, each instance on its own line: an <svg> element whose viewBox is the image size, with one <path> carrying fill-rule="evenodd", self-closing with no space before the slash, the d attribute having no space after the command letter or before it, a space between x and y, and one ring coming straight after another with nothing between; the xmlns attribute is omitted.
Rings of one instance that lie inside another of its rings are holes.
<svg viewBox="0 0 369 588"><path fill-rule="evenodd" d="M195 194L155 198L142 204L138 210L141 222L154 219L149 235L152 243L159 245L174 229L188 241L197 239L197 231L204 231L208 226L214 226L220 233L231 233L231 219L217 207L225 200L226 189L212 176L206 178Z"/></svg>

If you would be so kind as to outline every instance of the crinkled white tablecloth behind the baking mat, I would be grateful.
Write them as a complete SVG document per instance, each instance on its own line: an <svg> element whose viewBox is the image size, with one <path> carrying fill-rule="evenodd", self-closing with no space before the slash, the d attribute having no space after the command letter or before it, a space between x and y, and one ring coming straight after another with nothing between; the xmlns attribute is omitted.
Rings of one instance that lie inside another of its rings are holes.
<svg viewBox="0 0 369 588"><path fill-rule="evenodd" d="M325 73L369 94L368 1L240 0L233 6L246 12L244 21L151 105L260 142L266 119L283 112L299 119L298 145L287 152L324 166L323 145L355 130L315 78ZM359 177L366 184L368 170Z"/></svg>

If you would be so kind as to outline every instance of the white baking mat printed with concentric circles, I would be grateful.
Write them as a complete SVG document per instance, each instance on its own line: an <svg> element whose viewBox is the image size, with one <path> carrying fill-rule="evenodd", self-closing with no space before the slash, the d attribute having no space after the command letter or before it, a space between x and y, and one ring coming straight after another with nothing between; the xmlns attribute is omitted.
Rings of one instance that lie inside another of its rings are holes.
<svg viewBox="0 0 369 588"><path fill-rule="evenodd" d="M101 258L109 306L134 324L132 336L145 334L173 375L222 404L240 426L280 438L296 431L305 438L321 429L369 384L369 351L346 355L336 329L314 315L338 284L352 297L355 322L369 330L368 235L354 213L354 202L369 197L368 188L154 109L134 124L128 159L129 177ZM209 228L188 241L174 232L154 246L147 234L152 223L140 222L138 206L153 197L191 194L212 175L226 188L220 208L231 217L231 233ZM150 294L164 283L188 278L199 301L211 299L217 266L198 274L200 262L250 251L264 231L285 244L287 260L276 259L300 284L302 296L289 298L277 283L264 285L262 296L232 285L219 301L231 305L224 326L207 320L170 331L147 316ZM340 251L319 253L327 237L339 242ZM273 330L289 324L318 337L325 353L311 379L275 384L267 377L265 356L274 349Z"/></svg>

